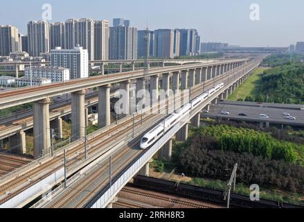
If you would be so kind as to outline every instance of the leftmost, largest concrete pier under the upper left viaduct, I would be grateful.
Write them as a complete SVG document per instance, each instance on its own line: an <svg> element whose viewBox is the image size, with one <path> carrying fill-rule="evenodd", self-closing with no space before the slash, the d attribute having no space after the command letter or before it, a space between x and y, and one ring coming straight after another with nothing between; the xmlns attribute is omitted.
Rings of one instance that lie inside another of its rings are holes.
<svg viewBox="0 0 304 222"><path fill-rule="evenodd" d="M51 146L49 105L51 99L35 101L33 105L34 158L48 153ZM72 105L73 106L73 105ZM73 110L72 110L73 113Z"/></svg>

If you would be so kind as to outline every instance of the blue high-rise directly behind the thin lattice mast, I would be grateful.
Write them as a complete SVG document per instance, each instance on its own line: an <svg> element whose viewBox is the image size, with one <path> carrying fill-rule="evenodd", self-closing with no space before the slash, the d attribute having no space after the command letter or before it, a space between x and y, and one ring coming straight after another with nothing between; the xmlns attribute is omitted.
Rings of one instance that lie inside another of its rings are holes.
<svg viewBox="0 0 304 222"><path fill-rule="evenodd" d="M147 40L146 40L147 35ZM138 30L138 44L137 44L137 56L138 58L145 58L147 56L147 42L148 46L148 55L149 57L154 57L154 44L155 37L154 31L149 30Z"/></svg>

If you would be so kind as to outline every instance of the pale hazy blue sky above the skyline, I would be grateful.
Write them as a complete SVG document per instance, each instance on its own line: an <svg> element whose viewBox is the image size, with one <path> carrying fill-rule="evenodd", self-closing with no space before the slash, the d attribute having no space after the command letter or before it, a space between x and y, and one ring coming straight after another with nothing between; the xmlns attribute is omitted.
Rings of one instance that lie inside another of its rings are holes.
<svg viewBox="0 0 304 222"><path fill-rule="evenodd" d="M53 21L89 17L130 19L138 29L197 28L204 42L242 46L288 46L304 41L303 0L10 0L1 3L0 24L26 33L30 20L42 19L42 5L51 3ZM260 21L249 19L251 3L260 6Z"/></svg>

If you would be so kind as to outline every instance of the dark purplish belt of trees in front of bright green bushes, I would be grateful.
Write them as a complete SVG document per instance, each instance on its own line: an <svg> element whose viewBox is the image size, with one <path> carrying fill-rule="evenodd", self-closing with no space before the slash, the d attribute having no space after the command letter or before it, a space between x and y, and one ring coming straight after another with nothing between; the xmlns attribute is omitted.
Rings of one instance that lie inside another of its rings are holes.
<svg viewBox="0 0 304 222"><path fill-rule="evenodd" d="M250 153L217 150L218 146L217 139L202 134L196 135L190 144L180 145L177 155L180 170L195 177L227 180L233 165L238 163L239 182L271 185L304 194L304 167Z"/></svg>

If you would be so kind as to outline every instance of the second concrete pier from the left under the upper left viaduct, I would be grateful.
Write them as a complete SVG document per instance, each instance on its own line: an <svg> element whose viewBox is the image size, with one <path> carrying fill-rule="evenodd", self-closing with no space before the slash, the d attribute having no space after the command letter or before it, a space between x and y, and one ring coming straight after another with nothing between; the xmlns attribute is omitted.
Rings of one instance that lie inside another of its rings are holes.
<svg viewBox="0 0 304 222"><path fill-rule="evenodd" d="M72 133L71 141L84 138L85 136L85 108L84 108L84 96L86 90L80 90L73 92L72 96Z"/></svg>

